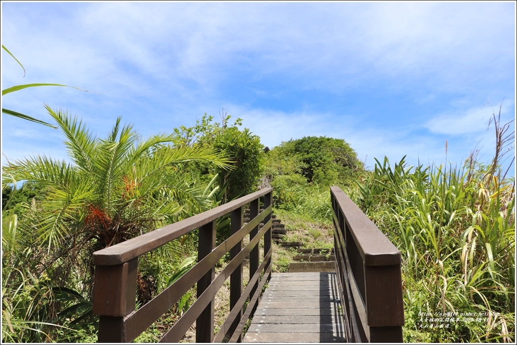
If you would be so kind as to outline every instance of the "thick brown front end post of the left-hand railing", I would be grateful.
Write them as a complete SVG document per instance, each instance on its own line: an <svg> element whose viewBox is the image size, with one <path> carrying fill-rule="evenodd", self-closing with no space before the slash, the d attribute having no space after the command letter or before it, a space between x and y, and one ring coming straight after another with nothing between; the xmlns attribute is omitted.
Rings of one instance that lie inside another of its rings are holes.
<svg viewBox="0 0 517 345"><path fill-rule="evenodd" d="M98 342L125 342L124 317L135 308L138 258L119 265L96 265L93 312L99 315Z"/></svg>

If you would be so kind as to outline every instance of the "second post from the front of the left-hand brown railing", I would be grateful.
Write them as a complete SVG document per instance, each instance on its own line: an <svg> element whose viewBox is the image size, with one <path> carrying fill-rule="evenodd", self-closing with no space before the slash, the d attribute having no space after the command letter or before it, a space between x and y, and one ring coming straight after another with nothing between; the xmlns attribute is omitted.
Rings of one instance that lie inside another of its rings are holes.
<svg viewBox="0 0 517 345"><path fill-rule="evenodd" d="M197 245L197 262L211 253L216 247L216 221L212 221L199 229L199 241ZM197 281L197 298L210 286L215 277L215 267L212 268ZM206 306L196 320L196 342L214 341L214 299Z"/></svg>

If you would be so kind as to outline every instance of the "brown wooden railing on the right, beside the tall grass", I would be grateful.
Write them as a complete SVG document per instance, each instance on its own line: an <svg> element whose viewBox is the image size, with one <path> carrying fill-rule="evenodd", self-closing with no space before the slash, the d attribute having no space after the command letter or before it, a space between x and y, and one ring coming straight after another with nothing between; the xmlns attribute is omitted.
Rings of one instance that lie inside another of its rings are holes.
<svg viewBox="0 0 517 345"><path fill-rule="evenodd" d="M330 188L348 342L402 342L401 253L338 187Z"/></svg>

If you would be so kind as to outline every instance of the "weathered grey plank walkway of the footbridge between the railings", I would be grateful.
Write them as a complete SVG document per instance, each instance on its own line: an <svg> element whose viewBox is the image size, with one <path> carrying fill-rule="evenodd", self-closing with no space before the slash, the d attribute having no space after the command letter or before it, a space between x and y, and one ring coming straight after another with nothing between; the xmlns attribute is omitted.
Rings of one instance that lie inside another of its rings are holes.
<svg viewBox="0 0 517 345"><path fill-rule="evenodd" d="M344 342L336 273L272 273L244 342Z"/></svg>

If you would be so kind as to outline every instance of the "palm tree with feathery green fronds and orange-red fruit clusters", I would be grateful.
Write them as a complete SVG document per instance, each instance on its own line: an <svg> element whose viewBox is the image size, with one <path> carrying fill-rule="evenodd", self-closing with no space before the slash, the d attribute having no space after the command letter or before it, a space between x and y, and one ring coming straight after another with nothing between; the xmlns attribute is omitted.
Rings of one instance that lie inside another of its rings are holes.
<svg viewBox="0 0 517 345"><path fill-rule="evenodd" d="M107 137L97 138L77 117L45 107L66 137L71 162L32 156L5 166L3 181L47 185L47 198L24 225L47 254L66 257L86 248L91 254L213 205L204 186L181 169L189 161L229 167L213 149L174 147L175 135L141 140L120 118Z"/></svg>

